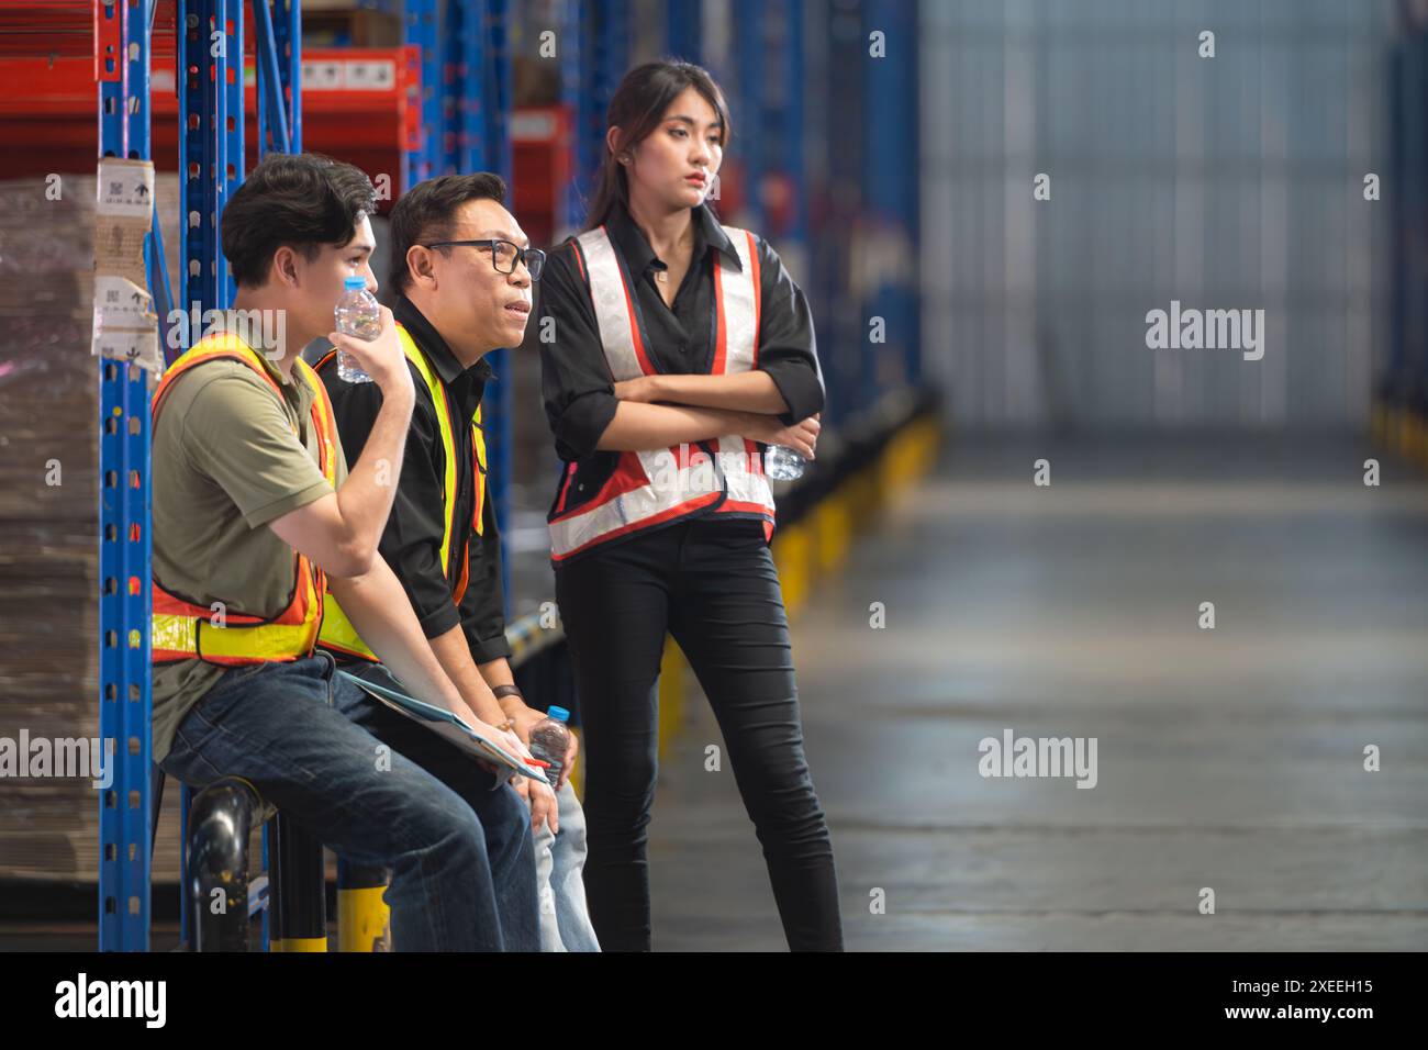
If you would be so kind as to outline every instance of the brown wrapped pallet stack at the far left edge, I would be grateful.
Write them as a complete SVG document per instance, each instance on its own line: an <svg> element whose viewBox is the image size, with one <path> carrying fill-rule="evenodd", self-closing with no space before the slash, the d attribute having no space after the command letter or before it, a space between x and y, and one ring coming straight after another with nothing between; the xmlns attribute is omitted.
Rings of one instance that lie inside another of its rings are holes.
<svg viewBox="0 0 1428 1050"><path fill-rule="evenodd" d="M177 274L177 177L156 193ZM14 741L99 736L93 220L93 174L0 183L0 737ZM177 877L176 836L166 811L157 879ZM0 880L97 873L87 777L0 779Z"/></svg>

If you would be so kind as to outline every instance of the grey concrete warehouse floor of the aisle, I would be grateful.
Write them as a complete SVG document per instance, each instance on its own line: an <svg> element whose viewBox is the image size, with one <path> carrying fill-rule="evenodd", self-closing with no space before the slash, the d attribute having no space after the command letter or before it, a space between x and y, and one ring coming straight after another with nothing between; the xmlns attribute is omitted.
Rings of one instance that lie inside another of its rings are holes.
<svg viewBox="0 0 1428 1050"><path fill-rule="evenodd" d="M1428 947L1425 639L1428 479L1357 439L951 444L794 621L848 947ZM651 824L655 949L783 950L690 711ZM1097 786L982 779L1008 727L1097 737Z"/></svg>

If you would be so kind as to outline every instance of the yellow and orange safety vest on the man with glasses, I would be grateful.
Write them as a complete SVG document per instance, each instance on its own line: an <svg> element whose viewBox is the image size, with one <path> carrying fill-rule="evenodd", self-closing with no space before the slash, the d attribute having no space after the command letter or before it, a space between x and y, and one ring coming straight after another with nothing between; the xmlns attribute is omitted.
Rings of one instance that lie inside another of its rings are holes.
<svg viewBox="0 0 1428 1050"><path fill-rule="evenodd" d="M481 534L483 531L481 510L486 500L486 437L481 433L481 409L477 406L476 414L471 419L471 470L474 474L473 483L476 484L476 504L471 514L471 529L467 530L464 527L464 520L456 520L456 427L453 426L451 403L447 400L446 386L443 386L441 377L437 376L436 369L431 367L431 361L427 360L427 356L417 347L416 340L411 339L411 333L408 333L401 324L397 326L397 340L401 343L401 351L407 356L407 360L416 366L417 373L427 384L427 393L431 394L431 404L436 407L437 430L441 436L441 494L444 500L441 509L440 564L443 574L453 586L451 601L454 604L461 604L470 570L470 533L476 531L477 534ZM334 356L336 351L328 353L317 363L317 367L327 367L328 361L331 361ZM460 544L456 541L458 529L461 530ZM457 549L461 551L460 563L453 559L453 551ZM344 653L346 656L356 656L363 660L377 660L377 654L373 653L367 643L361 640L361 636L357 633L357 629L353 627L351 620L347 619L347 613L343 611L337 599L328 594L326 606L327 609L323 617L318 644L324 649L333 649L338 653Z"/></svg>

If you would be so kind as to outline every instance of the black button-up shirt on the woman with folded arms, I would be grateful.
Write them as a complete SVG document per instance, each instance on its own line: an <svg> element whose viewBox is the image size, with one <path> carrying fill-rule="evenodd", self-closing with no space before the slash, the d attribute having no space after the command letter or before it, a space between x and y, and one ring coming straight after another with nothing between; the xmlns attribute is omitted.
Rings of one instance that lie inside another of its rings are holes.
<svg viewBox="0 0 1428 1050"><path fill-rule="evenodd" d="M650 241L617 204L605 230L623 256L644 316L645 346L654 367L663 373L708 373L714 363L714 271L715 253L740 270L738 256L714 214L694 209L694 253L674 307L665 304L655 286L655 271L665 263L655 257ZM813 313L803 289L794 284L778 254L761 237L758 249L760 320L758 369L767 371L788 404L781 416L793 426L823 409L823 373L814 344ZM563 460L584 460L615 416L614 381L600 343L590 286L581 277L567 241L550 253L536 283L536 317L527 339L536 340L541 356L541 389L545 416ZM547 341L548 340L548 341ZM581 466L581 474L587 471Z"/></svg>

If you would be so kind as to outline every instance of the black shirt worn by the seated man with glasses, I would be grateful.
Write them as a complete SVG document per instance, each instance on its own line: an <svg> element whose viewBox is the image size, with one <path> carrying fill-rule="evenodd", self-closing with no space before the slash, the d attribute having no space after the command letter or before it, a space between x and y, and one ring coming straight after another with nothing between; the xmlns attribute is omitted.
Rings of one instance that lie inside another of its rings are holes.
<svg viewBox="0 0 1428 1050"><path fill-rule="evenodd" d="M454 559L460 557L461 544L470 534L467 553L470 576L461 604L453 601L454 580L460 579L461 573L460 561L453 566L451 581L441 569L443 516L447 513L443 484L446 450L441 447L441 430L431 393L411 361L407 361L407 367L411 369L417 400L411 411L411 430L401 460L401 476L397 479L397 496L378 550L401 580L421 623L421 631L428 639L446 634L460 623L476 663L508 657L511 650L506 641L501 537L496 530L496 507L490 493L481 511L481 534L471 529L477 484L471 463L471 417L481 404L487 380L496 379L496 374L486 359L470 369L463 369L441 334L406 296L397 300L393 314L436 366L437 379L446 387L451 404L458 523L451 536ZM333 401L333 414L347 461L356 464L381 409L381 389L376 383L341 381L337 377L336 361L323 369L320 376Z"/></svg>

